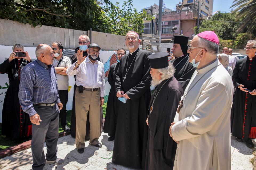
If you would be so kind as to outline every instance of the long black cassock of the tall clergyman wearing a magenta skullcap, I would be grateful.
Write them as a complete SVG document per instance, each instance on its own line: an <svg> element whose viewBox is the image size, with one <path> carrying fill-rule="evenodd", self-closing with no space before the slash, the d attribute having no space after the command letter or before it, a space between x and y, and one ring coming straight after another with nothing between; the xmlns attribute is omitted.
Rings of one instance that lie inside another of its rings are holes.
<svg viewBox="0 0 256 170"><path fill-rule="evenodd" d="M116 74L116 92L123 90L131 99L127 99L126 104L119 102L112 162L127 167L144 168L148 134L146 119L151 96L150 62L147 56L151 53L138 50L121 58ZM130 65L131 67L123 82L128 56L127 70Z"/></svg>

